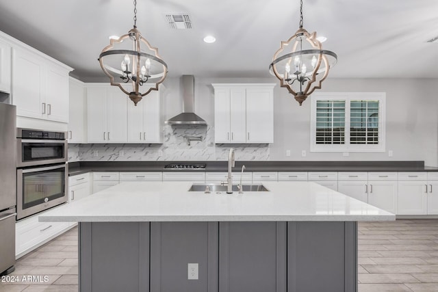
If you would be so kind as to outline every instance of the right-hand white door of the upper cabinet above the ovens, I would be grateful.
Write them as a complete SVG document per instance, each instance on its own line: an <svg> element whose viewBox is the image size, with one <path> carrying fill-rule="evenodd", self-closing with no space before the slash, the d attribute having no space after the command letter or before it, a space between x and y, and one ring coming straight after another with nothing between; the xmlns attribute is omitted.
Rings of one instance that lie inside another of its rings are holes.
<svg viewBox="0 0 438 292"><path fill-rule="evenodd" d="M47 66L47 119L68 122L68 71Z"/></svg>

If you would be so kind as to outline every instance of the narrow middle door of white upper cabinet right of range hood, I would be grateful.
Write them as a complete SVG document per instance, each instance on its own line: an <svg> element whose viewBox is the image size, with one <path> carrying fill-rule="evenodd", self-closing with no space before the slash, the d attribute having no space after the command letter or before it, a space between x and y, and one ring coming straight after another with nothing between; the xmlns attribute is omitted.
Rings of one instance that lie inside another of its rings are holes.
<svg viewBox="0 0 438 292"><path fill-rule="evenodd" d="M245 96L245 88L231 88L230 90L231 143L246 142Z"/></svg>

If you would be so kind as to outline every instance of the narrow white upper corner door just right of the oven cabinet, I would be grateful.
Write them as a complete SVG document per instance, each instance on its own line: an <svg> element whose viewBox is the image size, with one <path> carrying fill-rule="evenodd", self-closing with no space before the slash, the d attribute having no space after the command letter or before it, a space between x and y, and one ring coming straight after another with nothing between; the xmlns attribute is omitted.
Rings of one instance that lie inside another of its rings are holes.
<svg viewBox="0 0 438 292"><path fill-rule="evenodd" d="M70 78L68 84L68 143L86 143L86 89L81 81Z"/></svg>

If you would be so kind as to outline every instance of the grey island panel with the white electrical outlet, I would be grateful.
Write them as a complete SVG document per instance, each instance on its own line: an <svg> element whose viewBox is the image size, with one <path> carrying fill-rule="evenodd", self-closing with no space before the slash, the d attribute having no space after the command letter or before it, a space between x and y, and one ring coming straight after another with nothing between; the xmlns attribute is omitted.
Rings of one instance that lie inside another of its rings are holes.
<svg viewBox="0 0 438 292"><path fill-rule="evenodd" d="M218 222L151 222L151 292L166 291L218 291Z"/></svg>

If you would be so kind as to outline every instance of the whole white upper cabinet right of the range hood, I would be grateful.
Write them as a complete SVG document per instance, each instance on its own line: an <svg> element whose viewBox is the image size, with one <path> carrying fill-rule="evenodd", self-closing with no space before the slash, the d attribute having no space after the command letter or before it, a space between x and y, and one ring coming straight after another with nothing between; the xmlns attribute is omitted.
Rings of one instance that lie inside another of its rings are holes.
<svg viewBox="0 0 438 292"><path fill-rule="evenodd" d="M273 83L212 84L216 143L274 142Z"/></svg>

